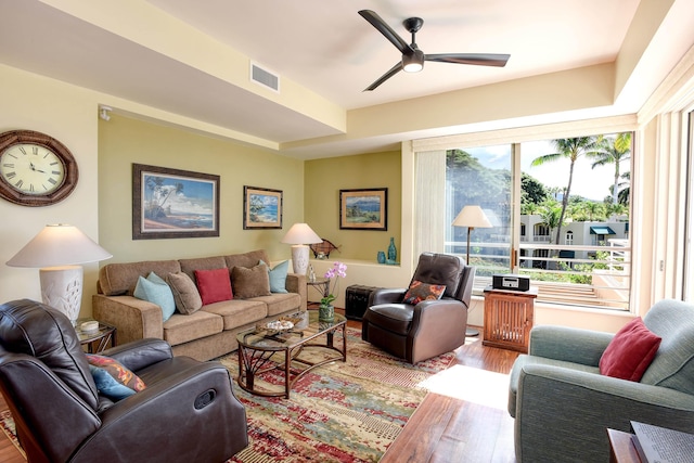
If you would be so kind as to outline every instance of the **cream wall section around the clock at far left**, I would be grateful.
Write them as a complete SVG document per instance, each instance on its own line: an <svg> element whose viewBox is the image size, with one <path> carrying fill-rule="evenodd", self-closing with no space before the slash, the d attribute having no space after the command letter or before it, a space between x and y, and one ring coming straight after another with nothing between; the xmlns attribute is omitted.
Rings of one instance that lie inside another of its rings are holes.
<svg viewBox="0 0 694 463"><path fill-rule="evenodd" d="M37 269L4 265L47 223L76 226L98 240L97 107L98 94L57 80L0 65L0 132L37 130L63 142L79 168L79 181L61 203L47 207L17 206L0 200L0 300L41 300ZM85 265L82 314L91 312L97 263Z"/></svg>

